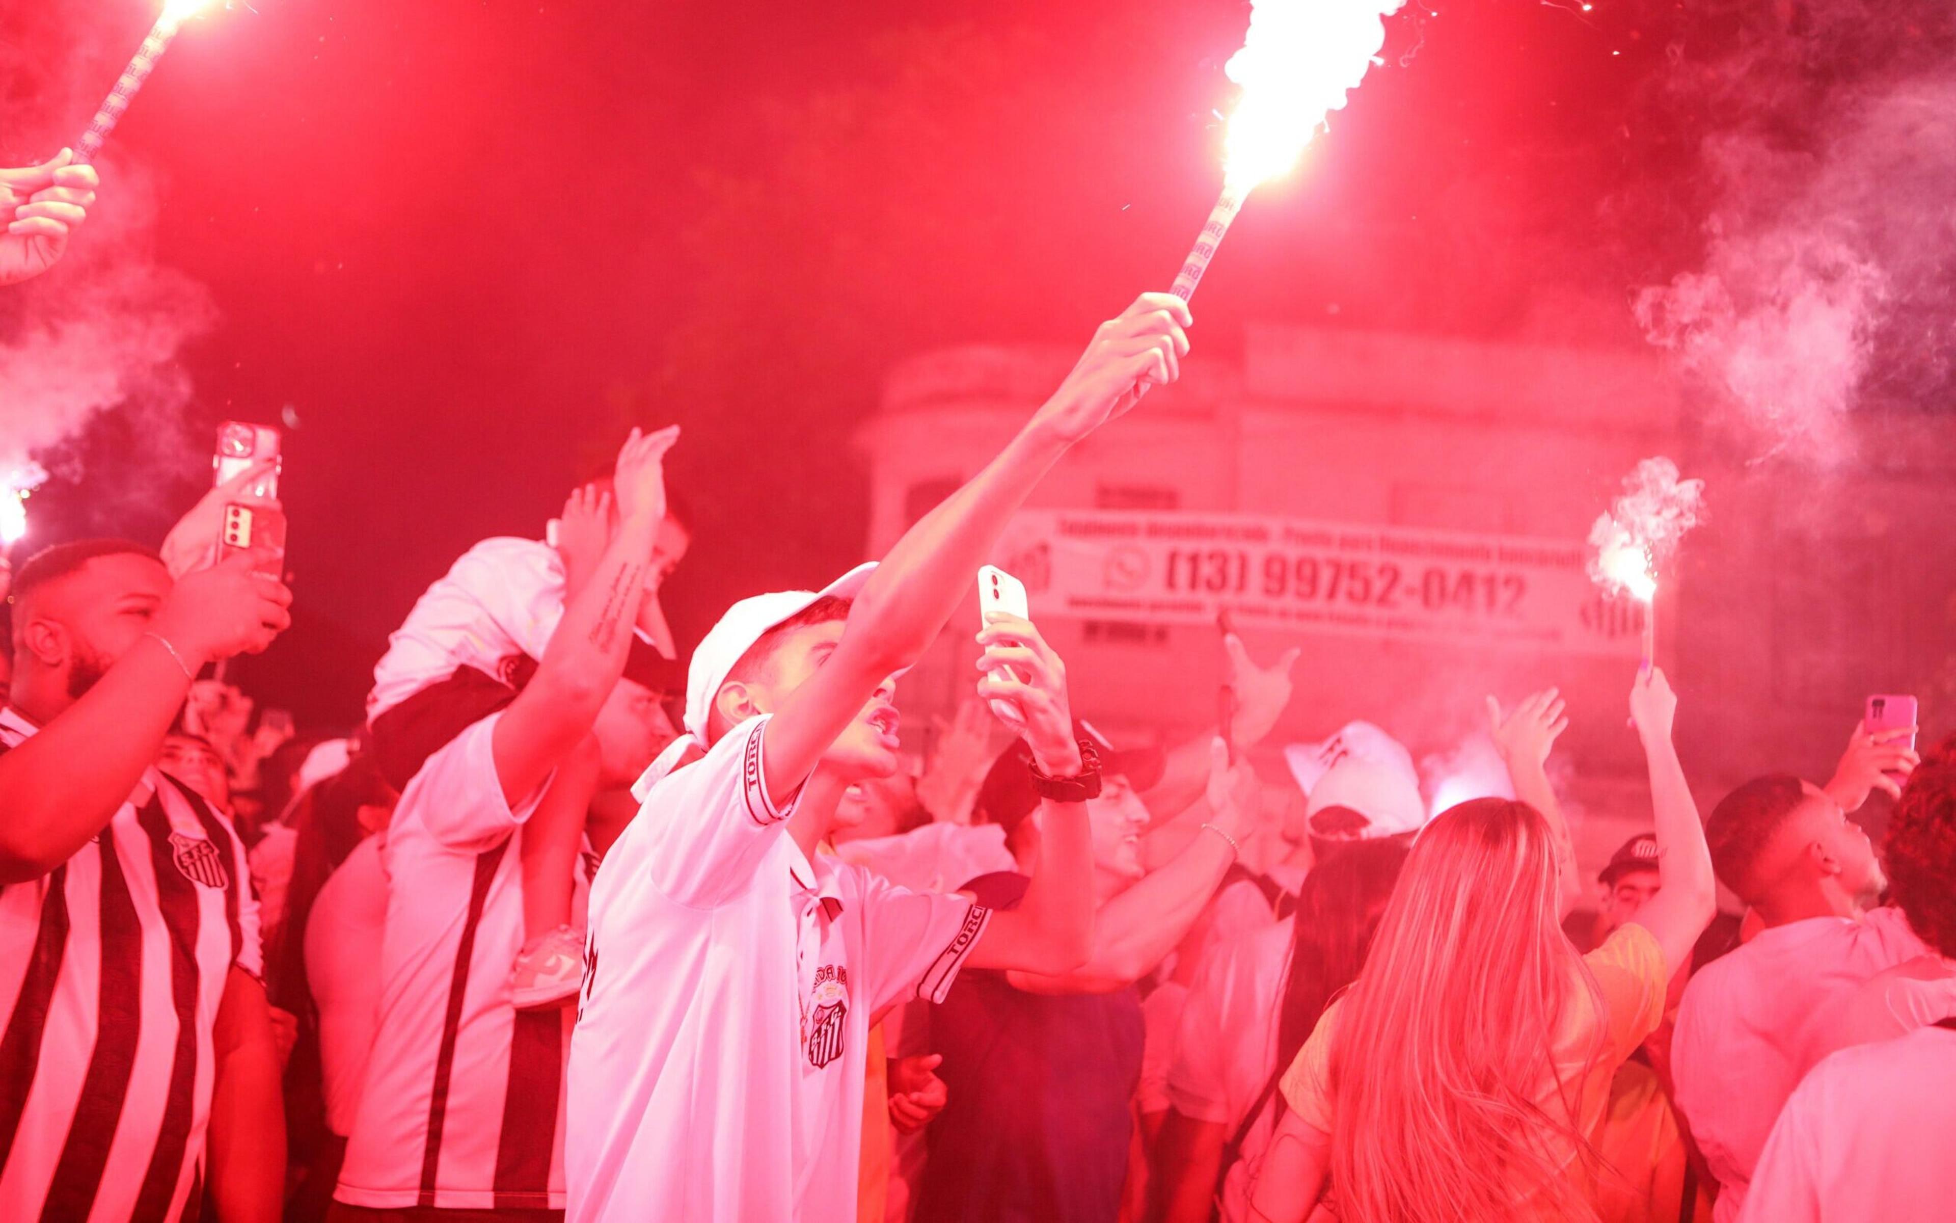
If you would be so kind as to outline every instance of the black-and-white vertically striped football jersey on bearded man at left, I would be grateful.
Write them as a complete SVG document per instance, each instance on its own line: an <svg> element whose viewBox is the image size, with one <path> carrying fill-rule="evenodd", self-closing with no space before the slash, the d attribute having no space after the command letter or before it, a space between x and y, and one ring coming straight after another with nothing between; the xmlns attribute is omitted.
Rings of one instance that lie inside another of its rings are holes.
<svg viewBox="0 0 1956 1223"><path fill-rule="evenodd" d="M0 706L0 753L33 734ZM244 845L156 769L68 861L0 888L0 1219L184 1211L231 969L264 974Z"/></svg>

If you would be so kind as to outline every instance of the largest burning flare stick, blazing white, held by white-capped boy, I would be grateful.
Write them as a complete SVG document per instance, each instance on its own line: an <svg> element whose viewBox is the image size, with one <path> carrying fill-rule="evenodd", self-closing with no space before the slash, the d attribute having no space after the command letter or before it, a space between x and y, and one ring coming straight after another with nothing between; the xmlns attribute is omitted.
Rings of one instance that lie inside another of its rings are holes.
<svg viewBox="0 0 1956 1223"><path fill-rule="evenodd" d="M1195 295L1209 260L1250 192L1287 172L1326 115L1365 80L1385 47L1385 18L1404 0L1256 0L1242 51L1224 72L1242 86L1228 117L1222 196L1172 292Z"/></svg>

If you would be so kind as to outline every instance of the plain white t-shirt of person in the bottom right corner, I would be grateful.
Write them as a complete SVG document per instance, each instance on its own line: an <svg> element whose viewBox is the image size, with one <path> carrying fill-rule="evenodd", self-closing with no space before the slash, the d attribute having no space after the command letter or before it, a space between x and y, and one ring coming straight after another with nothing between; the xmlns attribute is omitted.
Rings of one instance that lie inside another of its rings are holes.
<svg viewBox="0 0 1956 1223"><path fill-rule="evenodd" d="M1956 1211L1956 1031L1843 1049L1786 1102L1741 1223L1907 1223ZM1723 1201L1723 1198L1719 1198Z"/></svg>

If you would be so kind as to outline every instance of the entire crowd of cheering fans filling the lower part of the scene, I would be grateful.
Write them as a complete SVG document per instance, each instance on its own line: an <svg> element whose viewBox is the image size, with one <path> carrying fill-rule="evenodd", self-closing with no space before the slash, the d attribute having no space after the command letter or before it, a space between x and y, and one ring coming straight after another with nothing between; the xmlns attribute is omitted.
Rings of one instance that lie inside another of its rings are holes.
<svg viewBox="0 0 1956 1223"><path fill-rule="evenodd" d="M0 272L59 258L82 170L0 172ZM1489 701L1516 798L1430 816L1363 722L1260 777L1297 652L1230 636L1219 722L1123 747L992 612L968 702L906 746L898 677L1187 327L1140 297L880 564L687 659L679 434L634 430L546 538L428 587L346 738L203 677L289 624L278 554L215 552L250 472L162 548L25 560L0 1217L1942 1217L1956 742L1856 730L1827 785L1702 820L1647 665L1651 832L1596 888L1555 691Z"/></svg>

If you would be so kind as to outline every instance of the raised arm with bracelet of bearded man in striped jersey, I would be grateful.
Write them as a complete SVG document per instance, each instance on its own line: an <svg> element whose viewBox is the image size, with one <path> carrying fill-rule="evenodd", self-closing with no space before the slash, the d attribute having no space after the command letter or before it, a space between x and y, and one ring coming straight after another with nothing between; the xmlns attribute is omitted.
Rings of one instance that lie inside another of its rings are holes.
<svg viewBox="0 0 1956 1223"><path fill-rule="evenodd" d="M272 644L291 614L291 591L244 552L186 575L156 607L123 597L113 614L147 618L137 638L80 701L0 755L0 884L39 879L74 857L110 822L156 761L162 734L205 663ZM31 601L16 609L20 640L35 648Z"/></svg>

